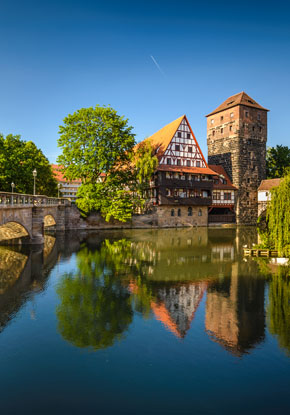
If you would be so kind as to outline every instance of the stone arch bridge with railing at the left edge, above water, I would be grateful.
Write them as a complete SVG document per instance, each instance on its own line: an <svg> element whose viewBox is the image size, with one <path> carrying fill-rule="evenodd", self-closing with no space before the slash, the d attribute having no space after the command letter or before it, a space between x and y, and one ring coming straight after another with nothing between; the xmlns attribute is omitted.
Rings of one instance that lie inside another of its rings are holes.
<svg viewBox="0 0 290 415"><path fill-rule="evenodd" d="M42 244L45 225L65 230L70 210L64 198L0 192L0 243L25 237L27 243Z"/></svg>

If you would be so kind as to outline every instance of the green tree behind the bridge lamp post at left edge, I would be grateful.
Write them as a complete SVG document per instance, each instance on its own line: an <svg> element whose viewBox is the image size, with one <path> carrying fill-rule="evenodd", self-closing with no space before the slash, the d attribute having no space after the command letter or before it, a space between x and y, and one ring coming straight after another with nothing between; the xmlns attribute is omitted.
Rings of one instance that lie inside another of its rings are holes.
<svg viewBox="0 0 290 415"><path fill-rule="evenodd" d="M57 182L51 165L32 141L23 141L19 135L0 134L0 190L11 192L11 183L17 193L33 193L33 170L37 170L36 193L56 196Z"/></svg>

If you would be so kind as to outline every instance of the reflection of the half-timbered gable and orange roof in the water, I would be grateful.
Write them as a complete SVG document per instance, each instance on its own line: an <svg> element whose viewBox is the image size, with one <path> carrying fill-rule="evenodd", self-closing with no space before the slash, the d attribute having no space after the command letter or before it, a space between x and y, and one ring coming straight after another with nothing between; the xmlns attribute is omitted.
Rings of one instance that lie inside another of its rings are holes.
<svg viewBox="0 0 290 415"><path fill-rule="evenodd" d="M177 337L184 337L205 289L205 282L159 288L157 300L151 302L155 317Z"/></svg>

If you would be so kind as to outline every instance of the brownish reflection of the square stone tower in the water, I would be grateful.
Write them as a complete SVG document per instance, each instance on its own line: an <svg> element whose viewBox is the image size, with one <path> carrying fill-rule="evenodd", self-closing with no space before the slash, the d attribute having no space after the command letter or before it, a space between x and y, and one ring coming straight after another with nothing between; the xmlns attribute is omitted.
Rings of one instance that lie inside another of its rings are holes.
<svg viewBox="0 0 290 415"><path fill-rule="evenodd" d="M233 264L232 277L211 284L206 300L206 330L236 355L246 353L265 334L264 280L243 275Z"/></svg>

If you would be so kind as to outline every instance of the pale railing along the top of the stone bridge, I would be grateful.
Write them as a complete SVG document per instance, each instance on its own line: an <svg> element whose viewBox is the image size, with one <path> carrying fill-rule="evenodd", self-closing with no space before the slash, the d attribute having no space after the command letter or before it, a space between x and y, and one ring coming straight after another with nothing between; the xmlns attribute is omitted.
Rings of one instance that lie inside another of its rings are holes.
<svg viewBox="0 0 290 415"><path fill-rule="evenodd" d="M0 209L33 206L69 206L71 201L63 197L26 195L22 193L0 192Z"/></svg>

